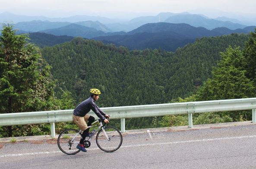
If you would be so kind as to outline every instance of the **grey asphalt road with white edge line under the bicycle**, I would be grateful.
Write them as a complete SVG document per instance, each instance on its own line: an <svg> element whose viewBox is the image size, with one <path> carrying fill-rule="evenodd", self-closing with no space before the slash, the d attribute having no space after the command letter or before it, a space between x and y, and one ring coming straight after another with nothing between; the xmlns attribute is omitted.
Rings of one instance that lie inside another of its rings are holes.
<svg viewBox="0 0 256 169"><path fill-rule="evenodd" d="M0 169L256 168L256 125L123 134L113 153L62 153L55 140L0 143Z"/></svg>

